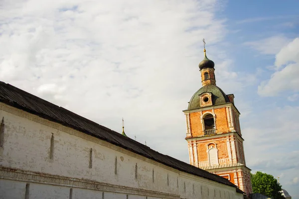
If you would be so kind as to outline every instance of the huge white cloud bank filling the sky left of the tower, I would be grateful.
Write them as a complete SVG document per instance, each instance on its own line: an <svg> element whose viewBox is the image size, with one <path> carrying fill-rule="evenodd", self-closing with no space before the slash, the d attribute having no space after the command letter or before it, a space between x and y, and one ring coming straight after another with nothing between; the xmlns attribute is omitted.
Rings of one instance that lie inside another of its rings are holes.
<svg viewBox="0 0 299 199"><path fill-rule="evenodd" d="M213 46L227 32L214 16L219 7L208 0L4 1L0 79L117 131L124 117L127 135L188 161L181 110L201 87L203 37L219 66L217 82L238 78ZM242 84L233 85L222 88ZM166 147L157 141L165 139Z"/></svg>

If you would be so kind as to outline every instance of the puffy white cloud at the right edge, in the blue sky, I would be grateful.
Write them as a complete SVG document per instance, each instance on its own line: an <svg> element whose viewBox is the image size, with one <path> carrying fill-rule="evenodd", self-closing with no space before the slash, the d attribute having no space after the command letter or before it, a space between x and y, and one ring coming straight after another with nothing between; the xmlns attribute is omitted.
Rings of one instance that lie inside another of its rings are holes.
<svg viewBox="0 0 299 199"><path fill-rule="evenodd" d="M299 91L299 38L291 41L276 54L276 72L258 87L261 96L276 96L283 91ZM280 68L286 65L283 69Z"/></svg>

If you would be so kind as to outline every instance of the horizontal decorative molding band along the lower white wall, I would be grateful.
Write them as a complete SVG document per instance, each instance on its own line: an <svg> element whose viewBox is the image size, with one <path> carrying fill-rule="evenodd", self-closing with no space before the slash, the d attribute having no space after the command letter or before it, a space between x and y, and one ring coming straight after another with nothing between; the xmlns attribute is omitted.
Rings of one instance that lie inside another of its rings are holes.
<svg viewBox="0 0 299 199"><path fill-rule="evenodd" d="M100 183L88 179L69 178L58 175L50 175L39 172L30 172L19 169L0 167L0 179L14 180L22 182L32 182L47 185L64 186L70 188L81 188L114 193L128 193L134 195L151 196L156 198L180 199L179 195L136 189L125 186Z"/></svg>

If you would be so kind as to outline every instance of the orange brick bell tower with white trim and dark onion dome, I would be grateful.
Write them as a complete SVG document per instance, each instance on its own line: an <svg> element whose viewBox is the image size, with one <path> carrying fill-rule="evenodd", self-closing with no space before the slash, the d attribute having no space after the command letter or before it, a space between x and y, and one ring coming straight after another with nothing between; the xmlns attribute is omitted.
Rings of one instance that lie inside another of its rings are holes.
<svg viewBox="0 0 299 199"><path fill-rule="evenodd" d="M216 86L214 62L207 58L205 47L199 69L202 87L183 111L190 164L228 179L249 195L251 170L246 167L234 95L226 95Z"/></svg>

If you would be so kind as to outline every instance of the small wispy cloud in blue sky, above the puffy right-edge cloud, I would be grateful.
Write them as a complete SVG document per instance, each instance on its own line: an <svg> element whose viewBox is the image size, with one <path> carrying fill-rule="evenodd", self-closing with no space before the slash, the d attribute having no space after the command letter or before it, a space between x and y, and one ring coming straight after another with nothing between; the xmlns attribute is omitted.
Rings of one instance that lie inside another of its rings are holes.
<svg viewBox="0 0 299 199"><path fill-rule="evenodd" d="M277 35L258 41L245 42L244 44L258 50L262 54L273 55L278 53L290 41L284 35Z"/></svg>

